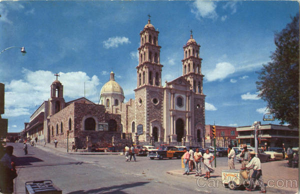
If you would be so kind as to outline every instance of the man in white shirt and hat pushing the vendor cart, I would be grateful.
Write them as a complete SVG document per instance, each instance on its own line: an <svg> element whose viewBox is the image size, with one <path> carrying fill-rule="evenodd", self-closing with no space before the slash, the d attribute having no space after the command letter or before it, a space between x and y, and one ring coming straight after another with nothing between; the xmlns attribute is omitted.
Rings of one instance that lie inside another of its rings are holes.
<svg viewBox="0 0 300 194"><path fill-rule="evenodd" d="M258 186L260 187L260 193L266 193L265 187L262 181L262 172L261 172L261 166L260 166L260 160L255 156L255 152L250 152L250 162L247 164L244 168L241 168L240 170L250 170L253 169L253 173L250 178L250 187L246 188L248 192L253 191L254 189L254 183L257 182ZM255 184L257 186L257 184Z"/></svg>

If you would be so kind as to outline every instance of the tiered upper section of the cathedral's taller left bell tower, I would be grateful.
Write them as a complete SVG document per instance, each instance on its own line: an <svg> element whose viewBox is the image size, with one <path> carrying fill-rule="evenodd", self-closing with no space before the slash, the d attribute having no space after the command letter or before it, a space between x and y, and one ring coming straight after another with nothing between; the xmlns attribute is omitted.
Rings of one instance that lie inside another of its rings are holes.
<svg viewBox="0 0 300 194"><path fill-rule="evenodd" d="M158 45L158 31L150 23L140 31L140 46L138 48L139 62L136 66L137 88L144 85L161 87L161 67L159 60L160 46Z"/></svg>

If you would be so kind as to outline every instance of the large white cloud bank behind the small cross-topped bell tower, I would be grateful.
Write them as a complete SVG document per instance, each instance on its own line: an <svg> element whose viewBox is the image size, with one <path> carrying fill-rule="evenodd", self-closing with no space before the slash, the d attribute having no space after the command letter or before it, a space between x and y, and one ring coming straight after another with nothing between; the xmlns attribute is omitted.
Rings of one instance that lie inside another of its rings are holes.
<svg viewBox="0 0 300 194"><path fill-rule="evenodd" d="M29 109L36 108L50 96L50 85L55 79L50 71L30 71L23 69L24 80L12 80L5 85L5 116L30 115ZM63 96L79 98L93 97L97 94L96 86L99 79L93 75L89 77L85 72L59 73L62 83Z"/></svg>

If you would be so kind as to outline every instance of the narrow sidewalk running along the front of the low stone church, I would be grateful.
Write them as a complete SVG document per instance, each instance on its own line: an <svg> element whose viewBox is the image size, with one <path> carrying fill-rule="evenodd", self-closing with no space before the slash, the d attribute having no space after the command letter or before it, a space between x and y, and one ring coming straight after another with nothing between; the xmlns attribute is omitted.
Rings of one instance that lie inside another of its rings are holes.
<svg viewBox="0 0 300 194"><path fill-rule="evenodd" d="M68 150L66 152L66 148L61 148L57 146L57 148L54 147L54 144L46 144L45 146L36 144L36 148L39 148L46 152L61 152L69 155L121 155L122 152L71 152L71 150Z"/></svg>

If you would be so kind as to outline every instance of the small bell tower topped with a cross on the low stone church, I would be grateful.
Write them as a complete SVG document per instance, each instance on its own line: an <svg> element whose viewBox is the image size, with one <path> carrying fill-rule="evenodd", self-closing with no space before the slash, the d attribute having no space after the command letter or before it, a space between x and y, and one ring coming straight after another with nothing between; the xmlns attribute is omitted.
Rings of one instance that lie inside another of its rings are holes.
<svg viewBox="0 0 300 194"><path fill-rule="evenodd" d="M57 73L55 74L56 80L51 84L51 95L49 98L49 110L48 115L54 115L64 108L64 99L63 99L63 85L57 80Z"/></svg>

